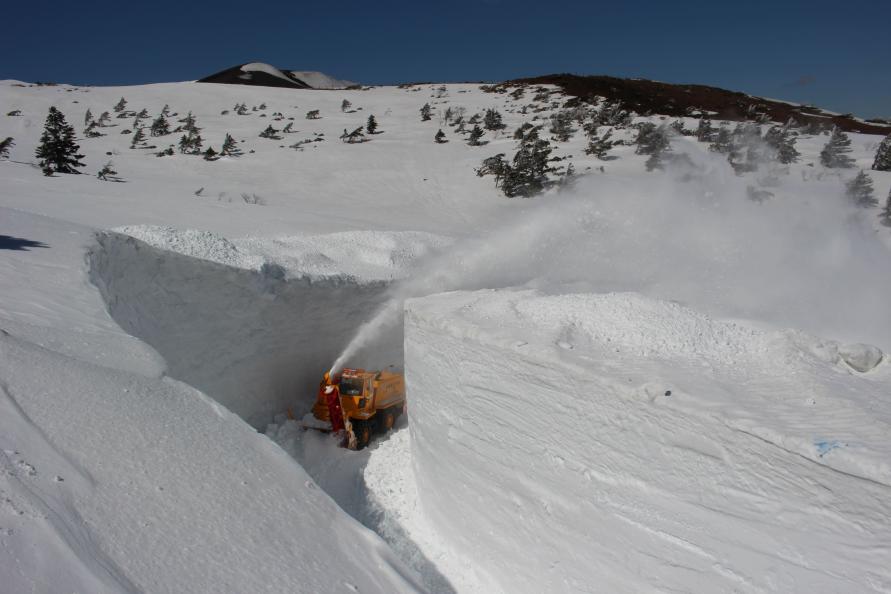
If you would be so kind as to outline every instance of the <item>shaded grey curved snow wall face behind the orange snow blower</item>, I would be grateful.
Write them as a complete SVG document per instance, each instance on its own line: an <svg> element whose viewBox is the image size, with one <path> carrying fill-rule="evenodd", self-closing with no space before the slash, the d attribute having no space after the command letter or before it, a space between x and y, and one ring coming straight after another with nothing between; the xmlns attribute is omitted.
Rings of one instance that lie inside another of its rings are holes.
<svg viewBox="0 0 891 594"><path fill-rule="evenodd" d="M170 376L255 428L288 408L308 410L322 373L380 307L387 287L350 277L284 280L113 232L97 242L91 278L115 321L154 347ZM401 333L393 329L355 361L401 366Z"/></svg>

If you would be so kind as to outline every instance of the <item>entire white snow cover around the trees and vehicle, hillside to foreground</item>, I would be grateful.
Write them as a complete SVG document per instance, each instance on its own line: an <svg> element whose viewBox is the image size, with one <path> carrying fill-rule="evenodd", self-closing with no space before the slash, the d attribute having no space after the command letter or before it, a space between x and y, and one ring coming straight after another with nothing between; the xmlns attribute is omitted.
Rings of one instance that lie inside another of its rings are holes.
<svg viewBox="0 0 891 594"><path fill-rule="evenodd" d="M574 184L508 200L474 168L554 108L439 87L0 81L0 591L891 592L891 230L856 169L678 137L646 173L578 131ZM244 154L112 112L44 177L48 108L121 96ZM508 127L469 147L458 106ZM406 373L361 452L287 416L335 361Z"/></svg>

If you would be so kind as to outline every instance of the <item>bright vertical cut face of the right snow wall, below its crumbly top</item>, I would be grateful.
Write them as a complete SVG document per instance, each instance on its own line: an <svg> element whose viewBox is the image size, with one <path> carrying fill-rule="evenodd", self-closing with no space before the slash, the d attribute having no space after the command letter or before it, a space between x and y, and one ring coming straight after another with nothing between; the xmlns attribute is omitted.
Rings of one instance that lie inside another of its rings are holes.
<svg viewBox="0 0 891 594"><path fill-rule="evenodd" d="M468 322L479 293L407 302L408 418L424 513L505 592L891 588L887 484L675 408L646 361L564 363L579 336L542 356L519 309Z"/></svg>

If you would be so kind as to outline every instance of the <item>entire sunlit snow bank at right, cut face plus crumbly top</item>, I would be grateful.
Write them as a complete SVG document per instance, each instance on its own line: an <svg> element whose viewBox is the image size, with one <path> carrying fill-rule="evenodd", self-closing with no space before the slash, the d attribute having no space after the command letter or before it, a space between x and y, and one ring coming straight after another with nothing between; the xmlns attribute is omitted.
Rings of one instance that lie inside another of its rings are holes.
<svg viewBox="0 0 891 594"><path fill-rule="evenodd" d="M888 363L630 293L405 325L421 507L504 591L891 591Z"/></svg>

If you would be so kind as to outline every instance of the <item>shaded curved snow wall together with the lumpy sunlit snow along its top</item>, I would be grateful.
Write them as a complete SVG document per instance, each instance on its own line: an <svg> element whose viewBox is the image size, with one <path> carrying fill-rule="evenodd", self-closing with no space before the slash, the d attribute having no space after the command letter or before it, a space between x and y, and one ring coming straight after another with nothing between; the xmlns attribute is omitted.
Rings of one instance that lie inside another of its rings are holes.
<svg viewBox="0 0 891 594"><path fill-rule="evenodd" d="M380 307L389 281L444 241L385 232L230 241L123 227L99 235L91 268L112 317L153 346L172 377L262 428L308 407L321 371ZM401 365L401 331L387 328L356 360Z"/></svg>

